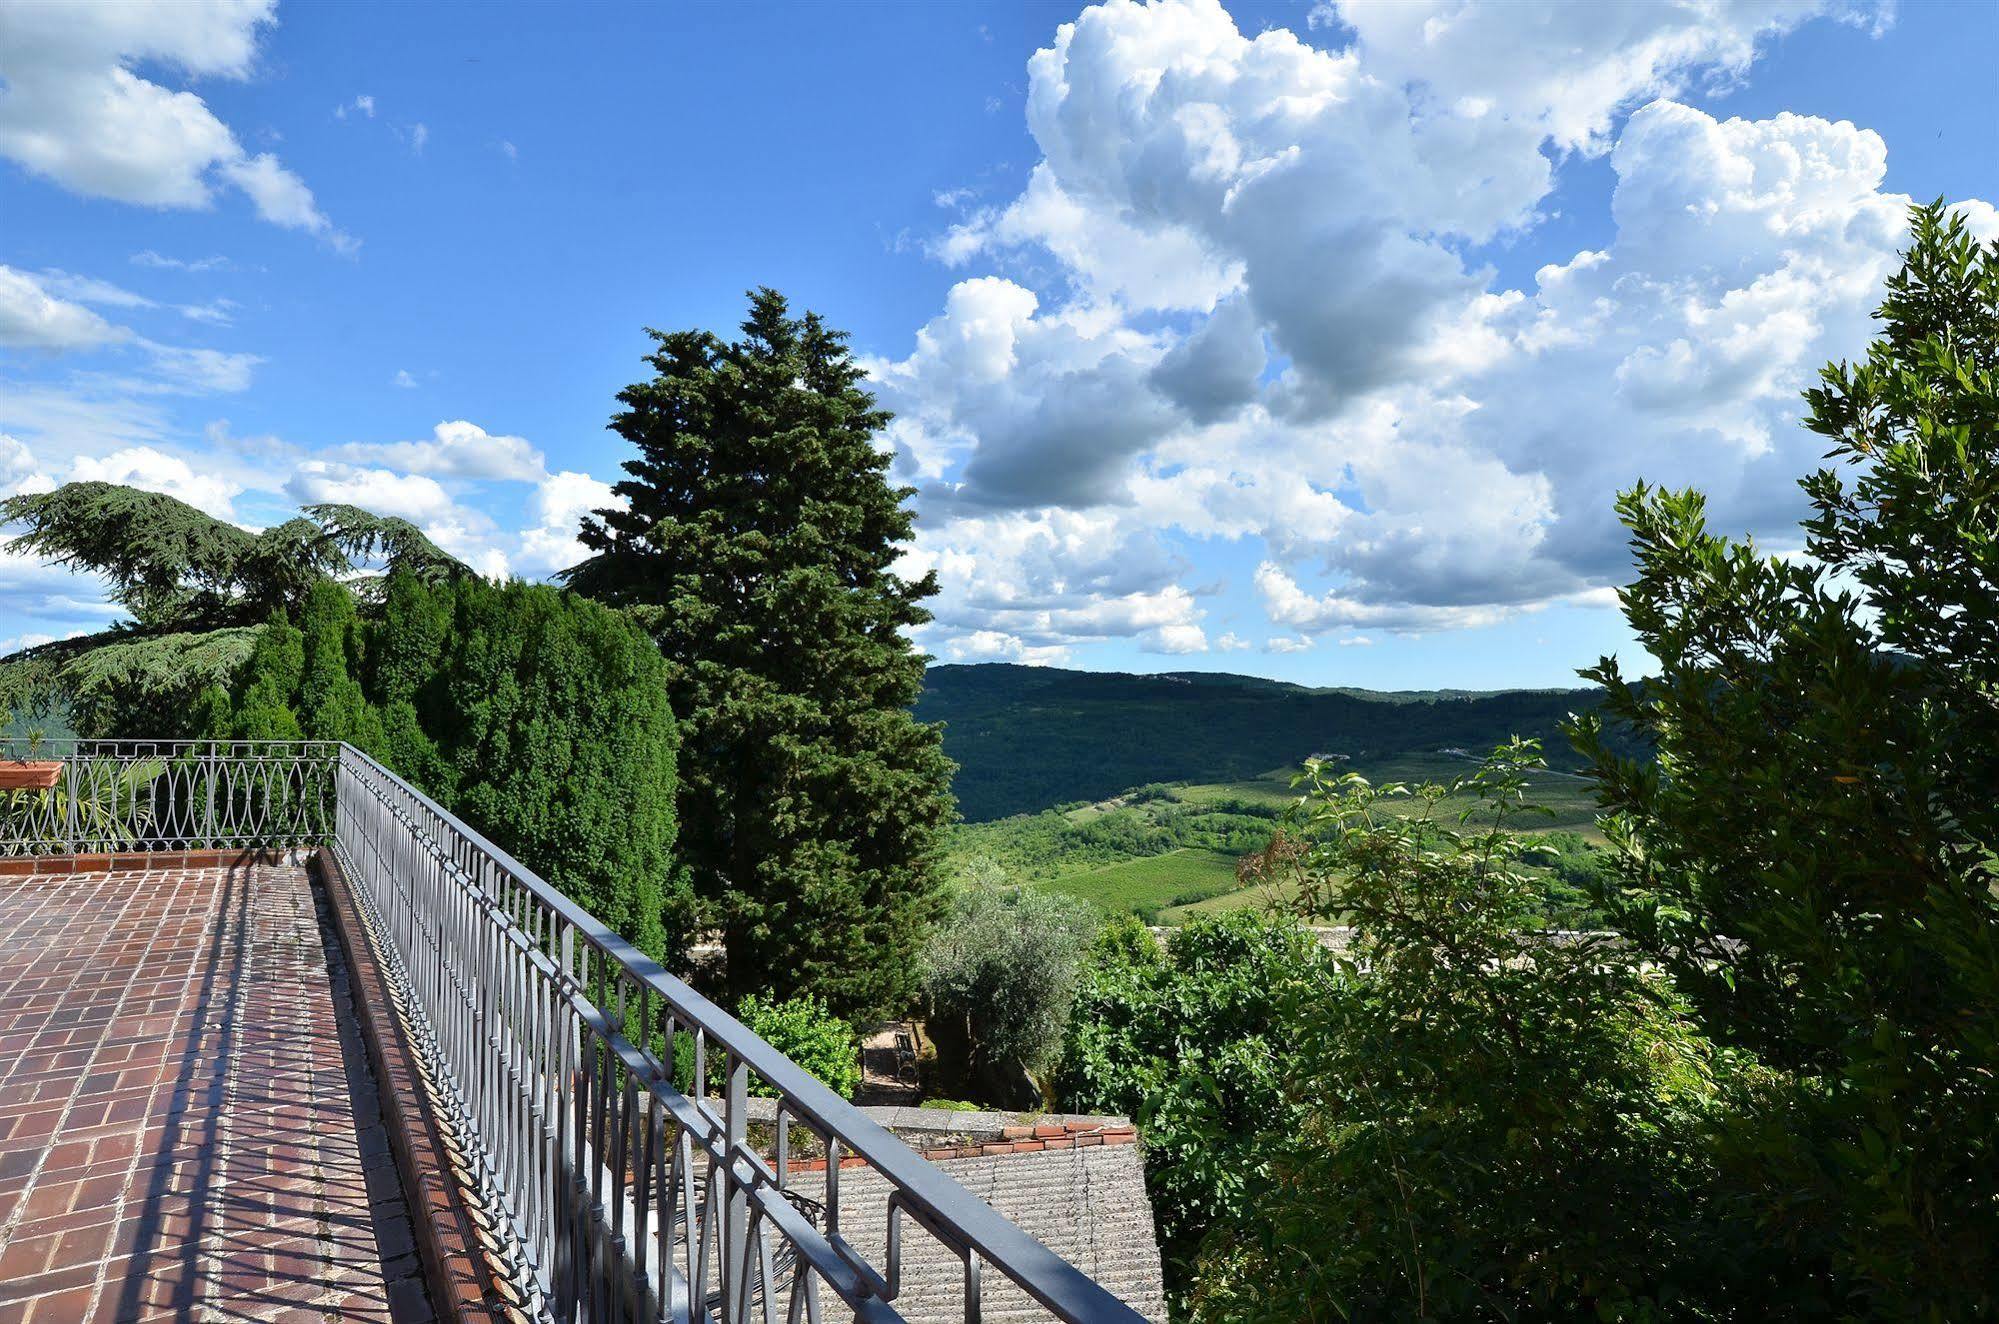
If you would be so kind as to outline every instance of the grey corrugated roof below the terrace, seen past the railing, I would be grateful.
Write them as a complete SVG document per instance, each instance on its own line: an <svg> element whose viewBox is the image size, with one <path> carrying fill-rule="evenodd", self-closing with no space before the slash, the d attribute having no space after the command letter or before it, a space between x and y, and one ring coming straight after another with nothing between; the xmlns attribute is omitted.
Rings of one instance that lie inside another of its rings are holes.
<svg viewBox="0 0 1999 1324"><path fill-rule="evenodd" d="M980 1200L1083 1270L1155 1324L1165 1322L1159 1240L1135 1144L934 1160ZM842 1234L886 1266L888 1184L872 1168L840 1174ZM966 1318L964 1266L918 1224L904 1220L904 1282L896 1308L910 1324ZM994 1324L1049 1314L990 1264L984 1318Z"/></svg>

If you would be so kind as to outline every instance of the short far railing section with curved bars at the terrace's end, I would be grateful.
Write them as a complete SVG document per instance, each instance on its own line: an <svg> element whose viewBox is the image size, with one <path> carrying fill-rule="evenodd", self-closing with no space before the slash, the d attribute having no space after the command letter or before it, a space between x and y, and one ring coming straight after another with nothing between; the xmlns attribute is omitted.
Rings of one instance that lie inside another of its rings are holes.
<svg viewBox="0 0 1999 1324"><path fill-rule="evenodd" d="M318 846L340 746L316 740L0 740L0 856ZM6 786L56 764L52 786Z"/></svg>

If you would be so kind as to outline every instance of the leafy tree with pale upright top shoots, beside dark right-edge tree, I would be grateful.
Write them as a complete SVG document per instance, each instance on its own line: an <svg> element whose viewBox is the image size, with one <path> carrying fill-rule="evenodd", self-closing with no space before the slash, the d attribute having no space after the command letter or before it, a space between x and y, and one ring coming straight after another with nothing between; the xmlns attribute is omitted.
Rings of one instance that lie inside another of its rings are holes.
<svg viewBox="0 0 1999 1324"><path fill-rule="evenodd" d="M1205 1246L1199 1318L1707 1318L1727 1298L1703 1128L1737 1072L1629 948L1541 930L1517 830L1539 766L1531 744L1451 786L1311 766L1299 906L1343 914L1351 946L1285 1010L1289 1108L1251 1122L1269 1182ZM1463 794L1469 818L1433 812Z"/></svg>

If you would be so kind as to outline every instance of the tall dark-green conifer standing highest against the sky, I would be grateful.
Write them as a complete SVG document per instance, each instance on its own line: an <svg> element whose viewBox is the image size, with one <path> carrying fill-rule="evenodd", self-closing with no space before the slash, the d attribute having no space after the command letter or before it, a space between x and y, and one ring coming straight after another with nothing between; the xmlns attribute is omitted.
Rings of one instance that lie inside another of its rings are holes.
<svg viewBox="0 0 1999 1324"><path fill-rule="evenodd" d="M900 1010L952 812L940 728L910 714L936 576L894 574L914 516L846 334L750 298L742 338L650 332L612 430L624 510L584 520L572 586L638 608L672 664L680 850L728 992Z"/></svg>

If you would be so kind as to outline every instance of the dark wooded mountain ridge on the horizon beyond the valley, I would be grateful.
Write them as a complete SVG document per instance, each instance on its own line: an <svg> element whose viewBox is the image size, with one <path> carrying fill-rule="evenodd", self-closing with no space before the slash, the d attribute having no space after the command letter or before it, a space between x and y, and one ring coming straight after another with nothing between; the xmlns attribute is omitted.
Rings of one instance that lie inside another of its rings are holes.
<svg viewBox="0 0 1999 1324"><path fill-rule="evenodd" d="M1101 800L1145 782L1229 782L1311 754L1483 752L1537 736L1577 766L1559 724L1603 692L1309 688L1225 672L932 666L916 714L944 722L958 808L972 822Z"/></svg>

